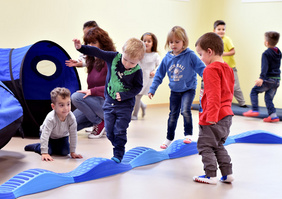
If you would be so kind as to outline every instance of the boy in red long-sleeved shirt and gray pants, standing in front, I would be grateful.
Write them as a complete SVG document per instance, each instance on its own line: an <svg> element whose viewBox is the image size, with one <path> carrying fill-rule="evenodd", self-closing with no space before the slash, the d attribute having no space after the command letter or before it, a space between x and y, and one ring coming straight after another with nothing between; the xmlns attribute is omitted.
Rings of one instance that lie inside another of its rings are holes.
<svg viewBox="0 0 282 199"><path fill-rule="evenodd" d="M221 181L230 183L231 158L223 144L232 124L231 109L234 92L233 70L224 62L223 42L215 33L206 33L196 42L196 51L207 65L203 73L204 93L199 112L199 138L197 148L202 156L205 175L194 176L196 182L217 184L217 163L222 174Z"/></svg>

